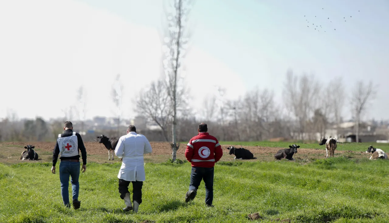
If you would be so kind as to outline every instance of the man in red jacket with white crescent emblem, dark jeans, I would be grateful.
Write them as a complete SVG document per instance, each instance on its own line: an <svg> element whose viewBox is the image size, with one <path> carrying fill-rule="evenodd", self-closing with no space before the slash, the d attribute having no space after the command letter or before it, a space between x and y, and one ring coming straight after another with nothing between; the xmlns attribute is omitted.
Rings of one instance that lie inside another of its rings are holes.
<svg viewBox="0 0 389 223"><path fill-rule="evenodd" d="M205 183L205 204L213 207L214 199L214 166L223 156L221 145L215 137L207 133L207 124L198 125L198 135L191 138L186 147L185 157L192 164L191 182L186 192L185 202L196 197L201 180Z"/></svg>

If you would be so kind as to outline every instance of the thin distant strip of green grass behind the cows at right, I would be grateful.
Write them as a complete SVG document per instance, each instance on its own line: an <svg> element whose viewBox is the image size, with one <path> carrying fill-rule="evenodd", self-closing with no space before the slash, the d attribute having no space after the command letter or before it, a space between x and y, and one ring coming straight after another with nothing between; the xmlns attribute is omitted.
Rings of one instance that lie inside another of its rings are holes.
<svg viewBox="0 0 389 223"><path fill-rule="evenodd" d="M289 148L289 145L297 144L303 149L326 149L325 145L319 145L319 143L301 143L301 142L220 142L221 145L238 145L238 146L263 146L263 147L281 147ZM363 142L363 143L337 143L337 150L351 150L351 151L366 151L367 148L372 145L374 148L379 148L385 152L389 152L389 143L375 143L375 142Z"/></svg>

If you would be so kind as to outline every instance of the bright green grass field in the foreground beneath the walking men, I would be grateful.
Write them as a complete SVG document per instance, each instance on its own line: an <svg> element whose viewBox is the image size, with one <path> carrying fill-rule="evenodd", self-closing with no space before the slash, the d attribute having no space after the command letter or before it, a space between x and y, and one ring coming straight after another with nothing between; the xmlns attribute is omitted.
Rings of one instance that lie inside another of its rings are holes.
<svg viewBox="0 0 389 223"><path fill-rule="evenodd" d="M88 164L80 174L81 208L74 210L63 207L59 174L51 173L50 163L0 164L0 222L251 222L247 214L256 212L261 222L389 222L385 160L221 162L215 166L213 208L204 205L203 182L195 200L184 202L189 163L146 163L138 214L121 211L120 165Z"/></svg>

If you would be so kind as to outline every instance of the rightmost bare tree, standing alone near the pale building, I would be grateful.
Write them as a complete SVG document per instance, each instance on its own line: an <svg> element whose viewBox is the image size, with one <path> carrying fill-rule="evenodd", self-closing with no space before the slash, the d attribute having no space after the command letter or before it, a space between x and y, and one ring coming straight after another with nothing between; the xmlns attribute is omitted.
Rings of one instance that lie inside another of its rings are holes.
<svg viewBox="0 0 389 223"><path fill-rule="evenodd" d="M364 85L363 81L358 81L352 91L350 103L352 112L355 114L355 135L357 142L359 142L359 122L361 121L361 115L365 111L366 105L375 99L376 93L372 81L367 85Z"/></svg>

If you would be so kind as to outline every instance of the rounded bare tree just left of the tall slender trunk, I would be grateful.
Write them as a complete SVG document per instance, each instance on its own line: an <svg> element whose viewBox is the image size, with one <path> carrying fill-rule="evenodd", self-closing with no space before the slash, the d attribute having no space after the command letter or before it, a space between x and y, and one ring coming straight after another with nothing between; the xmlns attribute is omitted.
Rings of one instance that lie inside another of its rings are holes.
<svg viewBox="0 0 389 223"><path fill-rule="evenodd" d="M137 100L137 112L157 123L166 141L169 141L166 128L172 114L170 102L163 80L152 82L150 88L142 91Z"/></svg>

